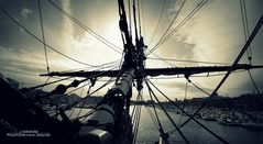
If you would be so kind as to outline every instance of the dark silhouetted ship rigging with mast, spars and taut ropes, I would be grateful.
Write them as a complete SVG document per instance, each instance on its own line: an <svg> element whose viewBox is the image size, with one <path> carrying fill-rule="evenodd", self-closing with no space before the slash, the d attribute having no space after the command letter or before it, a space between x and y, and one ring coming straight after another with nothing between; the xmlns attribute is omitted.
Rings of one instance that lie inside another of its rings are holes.
<svg viewBox="0 0 263 144"><path fill-rule="evenodd" d="M13 19L8 11L0 7L2 13L4 13L10 20L12 20L18 26L23 29L26 33L33 36L36 41L43 43L45 49L45 57L46 57L46 70L47 74L42 74L41 76L47 77L67 77L59 80L48 82L48 79L45 84L24 88L19 90L13 89L9 84L1 79L1 91L8 96L0 102L0 113L1 119L13 125L17 130L39 130L51 132L53 135L50 139L25 139L22 141L29 143L42 142L42 143L98 143L98 144L128 144L128 143L135 143L136 141L136 133L139 131L139 123L141 117L141 107L142 106L134 106L132 110L131 107L131 98L134 97L134 88L136 91L136 101L144 101L143 98L143 88L146 87L149 90L149 95L151 100L156 101L157 106L164 111L167 119L172 122L175 131L178 132L179 136L185 141L185 143L191 143L187 139L187 134L182 132L182 128L186 125L189 121L194 121L204 128L207 132L213 135L222 143L229 143L227 140L218 135L216 132L207 128L206 125L201 124L195 115L202 110L208 102L217 95L220 87L224 84L231 73L244 69L250 70L254 68L263 68L261 65L252 65L250 64L239 64L241 57L244 53L250 48L250 44L255 37L256 33L261 29L263 23L263 16L261 15L260 20L257 21L256 25L254 26L252 33L246 35L246 42L242 49L240 51L239 55L234 59L231 65L223 65L223 66L200 66L200 67L167 67L167 68L146 68L145 60L150 54L154 54L154 51L158 48L163 43L165 43L182 25L184 25L187 20L189 20L198 10L200 10L207 2L207 0L201 0L197 7L190 12L189 15L186 16L182 21L182 23L174 29L174 31L169 32L166 31L162 38L157 42L157 44L153 47L147 47L147 44L144 43L144 37L142 35L142 25L141 25L141 14L140 14L140 1L133 0L132 2L128 0L124 2L123 0L118 0L118 11L119 11L119 29L122 36L123 42L123 52L121 49L111 44L109 41L103 38L102 36L98 35L96 32L84 25L80 21L76 18L67 13L65 10L59 8L55 2L52 0L47 0L54 8L65 14L69 20L75 22L85 31L91 33L95 37L99 38L106 45L111 47L117 53L121 53L123 56L123 62L120 64L119 69L110 69L110 70L75 70L75 71L51 71L46 48L51 48L53 51L58 52L53 46L48 45L45 42L45 34L44 27L42 22L42 9L41 9L41 0L37 0L37 8L40 11L41 18L41 27L42 27L42 38L36 37L32 34L28 29L25 29L22 24L19 23L15 19ZM179 10L183 8L186 0L184 0L183 4L180 5ZM128 5L124 5L128 4ZM129 12L127 9L129 8ZM133 14L133 16L131 16ZM176 15L177 16L177 15ZM176 18L175 16L175 18ZM133 20L132 20L133 18ZM174 19L175 20L175 19ZM173 22L172 22L173 24ZM168 26L168 29L172 26ZM134 35L132 35L132 25L134 27ZM167 30L168 30L167 29ZM245 34L248 34L245 32ZM134 37L134 41L132 40ZM59 53L59 52L58 52ZM91 66L89 64L79 62L75 58L72 58L62 53L65 57L81 63L84 65ZM155 55L155 54L154 54ZM251 59L251 55L249 56ZM165 60L165 59L163 59ZM168 60L165 60L168 63ZM101 65L108 66L107 65ZM96 66L91 66L96 67ZM217 85L215 90L211 93L206 92L200 87L195 85L191 81L191 76L196 74L211 74L218 71L226 71L223 78ZM187 113L180 106L177 106L172 99L169 99L161 89L158 89L150 79L150 77L157 77L157 76L184 76L185 79L197 89L204 91L206 95L209 96L206 102L204 102L196 112L193 114ZM31 101L24 97L24 93L36 89L43 88L47 85L53 85L58 81L66 80L73 77L80 77L84 78L81 80L74 80L69 85L58 85L54 90L46 93L45 96L37 97L35 101ZM96 85L102 77L109 77L110 79L99 87L98 89L94 90L92 92L88 91L87 96L84 97L81 100L70 103L66 107L56 106L55 110L44 110L42 108L42 99L46 97L51 97L54 95L65 95L69 88L83 88L86 85L89 85L89 90L91 87ZM253 78L252 78L253 79ZM99 91L101 88L109 85L111 81L114 81L112 88L110 88L105 95L102 100L88 113L83 117L76 118L75 120L70 120L66 111L74 109L76 106L84 106L85 100L92 96L95 92ZM79 87L80 84L85 84L84 86ZM155 91L157 90L165 99L172 102L177 109L183 111L188 119L183 122L182 124L176 124L172 119L171 114L165 110L162 106L162 102L158 100ZM260 91L257 90L259 95ZM153 108L153 112L150 110L151 118L156 123L158 131L160 131L160 141L158 143L169 143L169 132L163 129L162 122L160 121L158 114L156 112L155 103L152 103L150 107ZM149 106L145 106L149 107ZM4 111L4 110L8 110ZM47 114L47 112L52 111ZM52 115L52 117L51 117ZM58 115L61 115L62 120L58 120ZM11 130L7 130L11 131ZM10 140L7 140L10 141ZM21 141L14 140L15 142Z"/></svg>

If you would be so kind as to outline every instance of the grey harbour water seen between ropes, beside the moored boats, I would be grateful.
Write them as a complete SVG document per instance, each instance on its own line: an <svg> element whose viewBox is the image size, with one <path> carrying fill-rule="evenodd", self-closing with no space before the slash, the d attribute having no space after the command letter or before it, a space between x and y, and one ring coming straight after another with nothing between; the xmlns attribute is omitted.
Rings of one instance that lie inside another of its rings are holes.
<svg viewBox="0 0 263 144"><path fill-rule="evenodd" d="M85 115L88 111L90 111L90 109L83 109L81 111L79 110L80 109L75 109L74 111L69 110L66 111L66 114L67 115L72 114L70 119L76 119L77 115L81 117ZM157 110L157 113L160 115L165 132L174 130L174 126L165 117L165 114L161 110ZM180 119L179 114L174 113L169 114L176 123L179 122ZM183 115L182 122L184 122L186 119L187 118ZM217 122L204 120L198 121L231 144L260 144L263 142L263 131L248 130L239 126L220 125ZM204 130L200 125L198 125L194 121L190 121L188 124L186 124L182 129L182 132L190 141L190 143L194 144L221 144L220 141L218 141L215 136L212 136L209 132ZM142 114L139 125L136 143L140 144L155 143L158 141L158 135L160 134L157 128L151 121L151 117L147 114L146 109L142 107ZM184 143L184 140L179 136L177 132L174 132L169 135L169 142L180 144Z"/></svg>

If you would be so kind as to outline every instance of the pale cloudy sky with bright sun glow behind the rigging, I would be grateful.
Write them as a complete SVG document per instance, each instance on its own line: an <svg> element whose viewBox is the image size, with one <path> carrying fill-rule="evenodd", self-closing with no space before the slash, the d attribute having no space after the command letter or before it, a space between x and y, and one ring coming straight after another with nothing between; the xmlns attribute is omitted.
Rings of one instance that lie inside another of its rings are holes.
<svg viewBox="0 0 263 144"><path fill-rule="evenodd" d="M127 2L128 0L124 1ZM200 1L187 0L169 31ZM91 31L122 49L123 44L118 26L119 13L117 0L54 0L54 2L83 22ZM141 19L142 35L144 36L145 44L149 45L149 49L151 49L171 24L174 15L183 4L183 0L166 0L158 26L157 23L164 0L142 0L141 4L143 5L141 7L141 15L143 16ZM8 11L10 15L30 32L42 38L37 0L0 0L0 7ZM73 23L47 0L41 0L41 7L45 40L48 45L65 55L90 65L116 62L110 68L118 66L121 54L114 52L90 33ZM245 7L249 30L251 32L263 14L263 1L245 0ZM22 81L26 87L44 82L46 78L39 77L40 74L46 73L43 44L32 38L2 11L0 11L0 73L6 77L12 77ZM252 64L254 65L263 65L262 40L263 31L261 29L252 43ZM240 1L208 0L182 29L154 51L154 53L162 58L231 64L238 56L244 42ZM94 69L65 58L50 48L47 48L47 57L52 71L78 68L86 68L86 70ZM172 67L162 60L151 59L155 55L151 54L149 57L146 67ZM213 66L201 63L171 63L173 66ZM243 56L241 63L248 63L246 55ZM261 69L252 70L252 75L261 91L263 88L262 73L263 70ZM221 78L222 76L193 77L190 79L206 91L211 92ZM184 78L152 79L152 81L172 99L182 99L184 96L186 82ZM46 90L51 90L54 87L47 87ZM231 75L219 90L219 95L234 97L252 91L253 85L248 71L242 71ZM205 96L202 92L189 85L187 98L202 96Z"/></svg>

